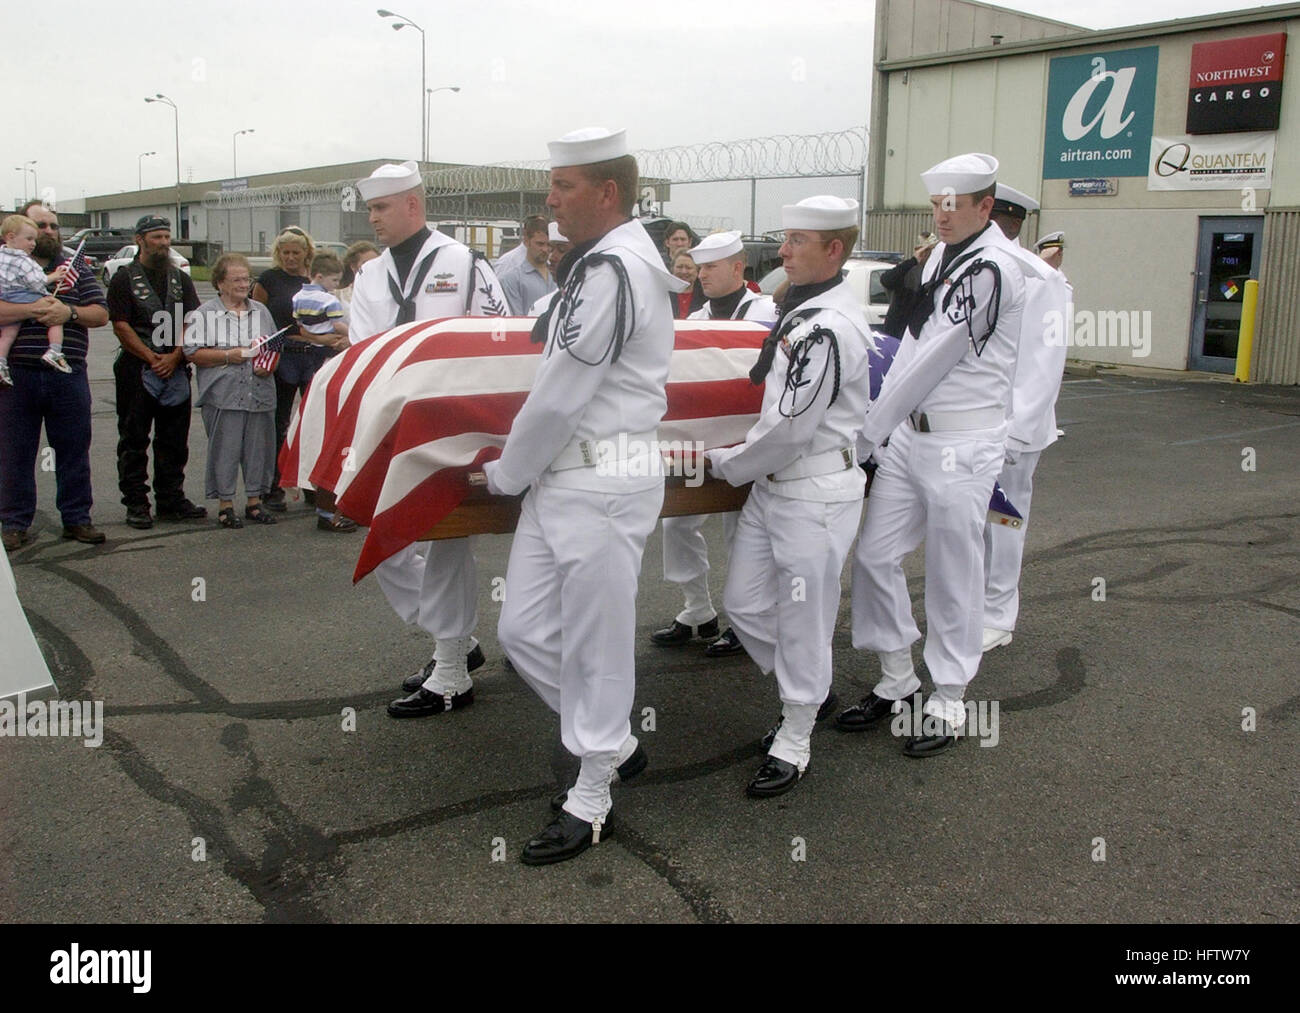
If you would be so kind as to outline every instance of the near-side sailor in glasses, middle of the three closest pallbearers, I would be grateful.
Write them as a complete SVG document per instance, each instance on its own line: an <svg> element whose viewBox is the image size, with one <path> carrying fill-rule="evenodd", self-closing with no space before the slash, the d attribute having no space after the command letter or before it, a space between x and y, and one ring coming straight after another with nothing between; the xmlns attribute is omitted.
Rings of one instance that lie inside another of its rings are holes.
<svg viewBox="0 0 1300 1013"><path fill-rule="evenodd" d="M807 769L812 726L833 706L831 637L840 573L862 519L855 445L875 347L841 273L858 202L814 196L783 208L790 289L750 372L763 407L745 442L710 450L715 475L754 482L732 542L723 605L759 668L776 672L781 720L746 793L788 792Z"/></svg>

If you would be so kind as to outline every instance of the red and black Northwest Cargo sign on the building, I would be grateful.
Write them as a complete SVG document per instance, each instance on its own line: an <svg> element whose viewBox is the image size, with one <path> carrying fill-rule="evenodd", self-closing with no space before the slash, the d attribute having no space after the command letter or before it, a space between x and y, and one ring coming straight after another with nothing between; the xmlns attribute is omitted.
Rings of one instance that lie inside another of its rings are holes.
<svg viewBox="0 0 1300 1013"><path fill-rule="evenodd" d="M1286 33L1192 46L1187 133L1277 130L1286 55Z"/></svg>

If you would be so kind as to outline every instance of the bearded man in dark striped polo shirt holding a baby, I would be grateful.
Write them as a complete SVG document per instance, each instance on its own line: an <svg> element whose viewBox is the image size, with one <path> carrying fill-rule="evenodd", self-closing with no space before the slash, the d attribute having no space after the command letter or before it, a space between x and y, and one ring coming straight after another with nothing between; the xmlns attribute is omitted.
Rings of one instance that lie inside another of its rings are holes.
<svg viewBox="0 0 1300 1013"><path fill-rule="evenodd" d="M52 272L69 260L58 238L58 217L32 202L22 208L36 222L32 259ZM56 505L64 537L100 545L103 532L90 519L90 381L86 376L88 329L108 322L104 291L88 270L72 290L35 303L0 303L0 322L22 322L9 354L13 386L0 389L0 529L6 551L32 541L29 532L36 514L36 454L40 427L55 453ZM72 367L62 373L42 362L46 329L64 326L64 356Z"/></svg>

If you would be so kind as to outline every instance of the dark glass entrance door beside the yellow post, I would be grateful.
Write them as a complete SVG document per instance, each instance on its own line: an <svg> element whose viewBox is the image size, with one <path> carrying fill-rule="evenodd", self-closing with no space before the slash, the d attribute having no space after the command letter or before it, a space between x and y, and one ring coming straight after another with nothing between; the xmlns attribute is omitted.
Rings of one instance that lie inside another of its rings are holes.
<svg viewBox="0 0 1300 1013"><path fill-rule="evenodd" d="M1201 218L1188 369L1231 373L1245 282L1260 277L1262 218Z"/></svg>

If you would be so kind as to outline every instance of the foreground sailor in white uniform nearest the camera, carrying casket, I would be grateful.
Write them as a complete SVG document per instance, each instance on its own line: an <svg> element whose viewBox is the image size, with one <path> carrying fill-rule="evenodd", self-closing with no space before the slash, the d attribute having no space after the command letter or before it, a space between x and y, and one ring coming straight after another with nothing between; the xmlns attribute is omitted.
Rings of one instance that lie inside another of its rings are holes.
<svg viewBox="0 0 1300 1013"><path fill-rule="evenodd" d="M551 142L546 204L573 247L559 294L533 325L545 339L493 493L526 490L506 572L498 635L524 680L560 715L581 759L555 821L524 848L562 862L610 832L610 784L645 767L628 715L636 692L636 596L663 506L656 430L668 402L670 293L686 285L632 217L637 163L623 130ZM552 802L552 806L555 805Z"/></svg>

